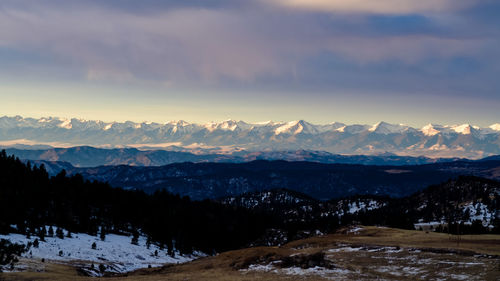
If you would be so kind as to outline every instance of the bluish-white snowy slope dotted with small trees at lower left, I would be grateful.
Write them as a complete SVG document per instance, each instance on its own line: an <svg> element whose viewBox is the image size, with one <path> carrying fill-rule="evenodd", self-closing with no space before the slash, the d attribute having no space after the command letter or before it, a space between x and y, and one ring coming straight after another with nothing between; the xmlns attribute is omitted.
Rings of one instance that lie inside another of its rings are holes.
<svg viewBox="0 0 500 281"><path fill-rule="evenodd" d="M66 230L63 232L67 234ZM158 267L168 263L183 263L204 256L202 253L182 256L178 252L174 256L169 256L167 250L160 249L157 245L151 244L148 248L144 236L139 236L137 245L131 243L131 238L125 235L108 234L103 241L98 236L73 233L71 238L45 237L46 242L42 242L36 236L28 239L25 235L15 233L0 235L0 239L24 245L28 242L33 243L37 239L39 246L31 246L23 254L23 258L27 260L43 258L55 262L78 261L81 268L91 275L99 274L97 271L99 264L106 266L106 272L119 273L149 266ZM95 249L92 248L93 243L96 244ZM93 267L95 271L92 270L92 264L95 264ZM16 266L24 267L22 261Z"/></svg>

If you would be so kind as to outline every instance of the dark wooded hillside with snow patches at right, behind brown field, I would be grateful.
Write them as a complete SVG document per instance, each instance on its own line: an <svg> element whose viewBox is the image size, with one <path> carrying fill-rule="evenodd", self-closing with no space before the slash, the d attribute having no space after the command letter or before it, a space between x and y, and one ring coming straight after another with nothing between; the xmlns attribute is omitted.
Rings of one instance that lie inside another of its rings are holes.
<svg viewBox="0 0 500 281"><path fill-rule="evenodd" d="M403 198L356 195L319 201L276 189L220 202L265 210L289 224L301 225L300 229L357 223L460 234L500 233L500 183L473 176L451 179Z"/></svg>

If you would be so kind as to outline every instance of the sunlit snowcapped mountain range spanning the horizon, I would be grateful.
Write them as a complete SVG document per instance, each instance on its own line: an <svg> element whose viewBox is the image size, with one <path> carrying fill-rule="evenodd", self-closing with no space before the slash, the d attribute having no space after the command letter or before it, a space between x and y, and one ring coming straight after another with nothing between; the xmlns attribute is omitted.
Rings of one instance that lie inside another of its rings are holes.
<svg viewBox="0 0 500 281"><path fill-rule="evenodd" d="M0 117L0 145L69 147L190 148L213 152L237 150L322 150L339 154L481 158L500 154L500 123L486 128L470 124L412 128L304 120L246 123L226 120L207 124L111 122L63 118Z"/></svg>

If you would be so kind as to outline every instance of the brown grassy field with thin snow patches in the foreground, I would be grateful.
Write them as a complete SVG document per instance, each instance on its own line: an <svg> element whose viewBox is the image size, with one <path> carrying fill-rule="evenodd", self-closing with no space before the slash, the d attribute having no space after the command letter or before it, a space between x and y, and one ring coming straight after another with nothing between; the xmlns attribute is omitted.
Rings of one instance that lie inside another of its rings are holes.
<svg viewBox="0 0 500 281"><path fill-rule="evenodd" d="M457 243L458 242L458 243ZM500 235L344 228L337 233L221 253L102 280L500 280ZM316 259L315 259L316 258ZM0 280L90 280L68 264L31 261ZM33 272L39 270L40 272ZM97 279L97 278L93 278Z"/></svg>

